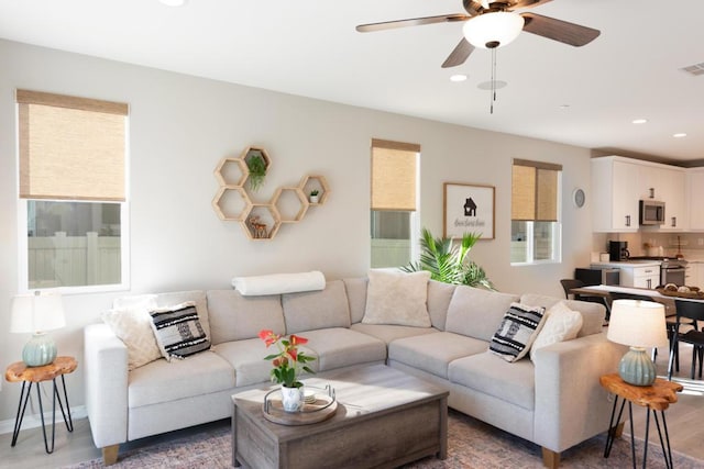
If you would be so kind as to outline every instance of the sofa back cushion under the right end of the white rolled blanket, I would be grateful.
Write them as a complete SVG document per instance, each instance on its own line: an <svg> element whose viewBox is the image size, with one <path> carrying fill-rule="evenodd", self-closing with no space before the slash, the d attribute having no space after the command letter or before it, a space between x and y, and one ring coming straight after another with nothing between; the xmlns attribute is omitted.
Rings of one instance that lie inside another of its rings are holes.
<svg viewBox="0 0 704 469"><path fill-rule="evenodd" d="M329 327L350 327L350 305L342 280L326 283L324 290L282 295L286 334Z"/></svg>

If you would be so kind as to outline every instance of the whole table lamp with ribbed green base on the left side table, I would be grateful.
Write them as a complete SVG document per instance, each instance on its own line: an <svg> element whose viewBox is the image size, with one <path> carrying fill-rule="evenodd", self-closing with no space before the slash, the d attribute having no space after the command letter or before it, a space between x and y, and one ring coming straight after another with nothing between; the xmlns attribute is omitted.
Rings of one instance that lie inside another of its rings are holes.
<svg viewBox="0 0 704 469"><path fill-rule="evenodd" d="M56 343L46 331L65 325L61 294L37 291L12 299L10 332L32 333L32 338L22 349L22 360L28 367L42 367L54 361Z"/></svg>

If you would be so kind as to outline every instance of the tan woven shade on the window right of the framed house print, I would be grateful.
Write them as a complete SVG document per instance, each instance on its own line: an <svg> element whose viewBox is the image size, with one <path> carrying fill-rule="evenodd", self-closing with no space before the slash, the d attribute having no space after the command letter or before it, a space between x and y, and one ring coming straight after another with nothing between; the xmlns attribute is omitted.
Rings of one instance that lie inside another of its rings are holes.
<svg viewBox="0 0 704 469"><path fill-rule="evenodd" d="M512 220L557 222L558 176L561 165L514 159Z"/></svg>

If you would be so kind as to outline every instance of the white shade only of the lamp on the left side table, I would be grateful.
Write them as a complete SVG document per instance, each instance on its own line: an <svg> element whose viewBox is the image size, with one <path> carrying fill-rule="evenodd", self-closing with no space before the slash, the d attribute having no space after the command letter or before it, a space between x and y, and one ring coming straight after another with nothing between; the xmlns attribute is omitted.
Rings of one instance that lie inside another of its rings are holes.
<svg viewBox="0 0 704 469"><path fill-rule="evenodd" d="M62 295L52 292L18 294L12 299L10 332L37 333L66 325Z"/></svg>

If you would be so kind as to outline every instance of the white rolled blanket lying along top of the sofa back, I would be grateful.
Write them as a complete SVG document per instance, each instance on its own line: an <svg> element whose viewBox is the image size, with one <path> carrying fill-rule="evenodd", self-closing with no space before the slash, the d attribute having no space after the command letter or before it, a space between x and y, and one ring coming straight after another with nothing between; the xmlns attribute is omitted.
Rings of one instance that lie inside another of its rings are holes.
<svg viewBox="0 0 704 469"><path fill-rule="evenodd" d="M235 277L232 279L232 287L245 297L294 293L297 291L323 290L326 288L326 278L318 270L300 273Z"/></svg>

